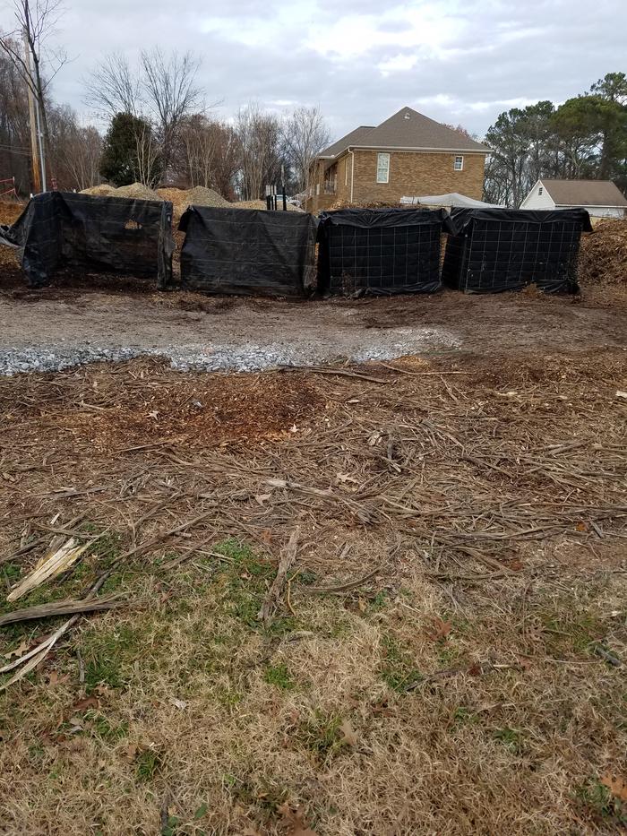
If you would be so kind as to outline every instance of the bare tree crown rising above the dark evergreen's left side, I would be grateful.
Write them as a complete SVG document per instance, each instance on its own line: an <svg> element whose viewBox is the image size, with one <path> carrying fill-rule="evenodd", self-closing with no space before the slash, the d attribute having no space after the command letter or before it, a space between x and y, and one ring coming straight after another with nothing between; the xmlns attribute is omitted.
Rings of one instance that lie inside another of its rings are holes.
<svg viewBox="0 0 627 836"><path fill-rule="evenodd" d="M85 83L85 102L102 116L116 113L137 116L142 109L142 88L139 75L133 71L126 56L114 52L100 62Z"/></svg>

